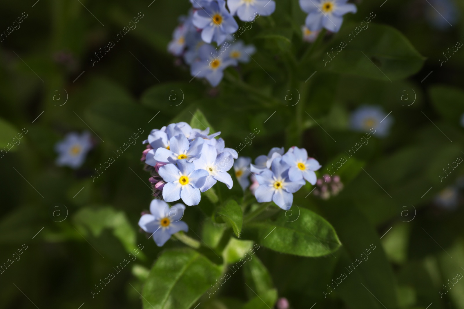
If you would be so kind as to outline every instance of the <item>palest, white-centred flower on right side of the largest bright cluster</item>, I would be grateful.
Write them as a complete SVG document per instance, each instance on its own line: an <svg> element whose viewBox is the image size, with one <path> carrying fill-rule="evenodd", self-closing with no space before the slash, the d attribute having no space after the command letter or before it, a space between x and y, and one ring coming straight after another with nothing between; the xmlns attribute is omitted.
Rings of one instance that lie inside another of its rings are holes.
<svg viewBox="0 0 464 309"><path fill-rule="evenodd" d="M211 189L217 181L225 183L227 188L232 189L232 177L227 173L233 165L233 159L229 153L223 152L218 155L216 147L205 145L201 151L200 158L194 160L193 164L195 164L196 170L202 169L209 173L205 184L200 188L201 192Z"/></svg>

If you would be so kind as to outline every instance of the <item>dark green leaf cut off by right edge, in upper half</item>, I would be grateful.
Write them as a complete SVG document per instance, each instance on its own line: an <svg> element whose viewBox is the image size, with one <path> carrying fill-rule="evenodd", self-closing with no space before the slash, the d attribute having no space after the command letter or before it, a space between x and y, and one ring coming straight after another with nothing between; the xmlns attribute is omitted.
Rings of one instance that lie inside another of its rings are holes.
<svg viewBox="0 0 464 309"><path fill-rule="evenodd" d="M458 125L464 113L464 91L450 86L434 86L429 90L433 107L442 117Z"/></svg>

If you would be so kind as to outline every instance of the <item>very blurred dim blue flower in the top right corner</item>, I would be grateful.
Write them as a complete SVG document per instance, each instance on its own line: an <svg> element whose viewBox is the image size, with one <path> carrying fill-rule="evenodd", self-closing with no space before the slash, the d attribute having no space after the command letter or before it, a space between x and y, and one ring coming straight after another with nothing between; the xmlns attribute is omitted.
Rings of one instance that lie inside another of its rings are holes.
<svg viewBox="0 0 464 309"><path fill-rule="evenodd" d="M430 0L425 5L425 19L433 28L445 30L458 21L458 7L452 0Z"/></svg>

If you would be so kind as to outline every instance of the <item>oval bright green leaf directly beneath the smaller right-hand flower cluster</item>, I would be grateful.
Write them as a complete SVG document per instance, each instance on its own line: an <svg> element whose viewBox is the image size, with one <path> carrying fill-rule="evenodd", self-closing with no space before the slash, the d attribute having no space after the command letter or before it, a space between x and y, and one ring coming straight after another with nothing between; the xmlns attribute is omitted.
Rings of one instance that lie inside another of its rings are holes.
<svg viewBox="0 0 464 309"><path fill-rule="evenodd" d="M335 252L341 243L330 223L306 208L298 209L300 215L292 222L281 211L276 221L249 224L251 237L272 250L305 257Z"/></svg>

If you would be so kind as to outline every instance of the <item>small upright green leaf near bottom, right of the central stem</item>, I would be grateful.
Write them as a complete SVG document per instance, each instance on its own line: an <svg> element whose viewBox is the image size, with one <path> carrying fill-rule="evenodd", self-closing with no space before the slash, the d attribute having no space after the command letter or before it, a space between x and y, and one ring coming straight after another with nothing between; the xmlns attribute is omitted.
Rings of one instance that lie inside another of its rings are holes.
<svg viewBox="0 0 464 309"><path fill-rule="evenodd" d="M251 257L251 260L247 261L243 268L245 282L250 287L250 289L246 290L250 298L255 296L254 292L261 296L274 288L271 275L266 266L258 259L257 255Z"/></svg>

